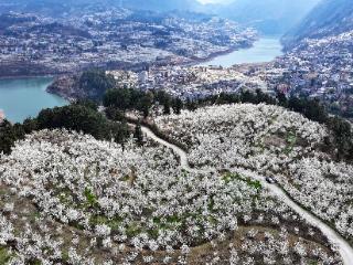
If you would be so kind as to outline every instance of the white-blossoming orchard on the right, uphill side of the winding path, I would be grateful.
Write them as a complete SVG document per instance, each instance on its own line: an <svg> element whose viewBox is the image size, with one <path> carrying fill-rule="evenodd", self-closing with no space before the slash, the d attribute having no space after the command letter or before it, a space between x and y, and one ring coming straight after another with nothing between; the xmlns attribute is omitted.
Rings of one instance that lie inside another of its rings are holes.
<svg viewBox="0 0 353 265"><path fill-rule="evenodd" d="M156 123L189 147L195 167L243 167L276 177L353 244L353 167L324 152L324 126L281 107L250 104L182 112Z"/></svg>

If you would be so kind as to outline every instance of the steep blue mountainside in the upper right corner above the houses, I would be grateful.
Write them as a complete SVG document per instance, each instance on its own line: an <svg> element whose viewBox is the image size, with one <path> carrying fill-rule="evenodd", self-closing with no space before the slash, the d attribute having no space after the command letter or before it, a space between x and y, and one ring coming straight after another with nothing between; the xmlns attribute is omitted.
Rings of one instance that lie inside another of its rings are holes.
<svg viewBox="0 0 353 265"><path fill-rule="evenodd" d="M306 38L336 35L350 30L353 30L353 0L322 0L282 41L290 47Z"/></svg>

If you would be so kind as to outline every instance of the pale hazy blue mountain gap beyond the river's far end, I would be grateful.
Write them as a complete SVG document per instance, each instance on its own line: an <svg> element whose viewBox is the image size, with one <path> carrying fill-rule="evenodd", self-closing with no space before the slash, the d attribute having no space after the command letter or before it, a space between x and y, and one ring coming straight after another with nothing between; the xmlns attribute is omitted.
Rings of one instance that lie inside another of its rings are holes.
<svg viewBox="0 0 353 265"><path fill-rule="evenodd" d="M299 23L319 0L235 0L225 6L210 6L216 12L265 34L282 34Z"/></svg>

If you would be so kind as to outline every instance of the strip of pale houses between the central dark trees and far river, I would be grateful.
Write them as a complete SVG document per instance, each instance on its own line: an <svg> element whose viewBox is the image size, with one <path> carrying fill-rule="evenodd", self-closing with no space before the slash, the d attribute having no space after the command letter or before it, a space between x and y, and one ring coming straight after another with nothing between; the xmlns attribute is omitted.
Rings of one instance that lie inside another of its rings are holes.
<svg viewBox="0 0 353 265"><path fill-rule="evenodd" d="M235 68L221 66L160 66L135 73L110 72L120 86L142 91L163 89L171 95L194 99L221 93L236 93L242 88L266 91L266 83Z"/></svg>

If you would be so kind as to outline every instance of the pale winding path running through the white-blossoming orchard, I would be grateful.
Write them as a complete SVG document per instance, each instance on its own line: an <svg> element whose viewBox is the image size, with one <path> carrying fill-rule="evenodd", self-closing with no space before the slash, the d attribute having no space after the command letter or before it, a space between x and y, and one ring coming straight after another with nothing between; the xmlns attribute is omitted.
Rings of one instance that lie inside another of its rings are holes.
<svg viewBox="0 0 353 265"><path fill-rule="evenodd" d="M141 126L141 128L142 128L142 132L148 138L172 149L180 157L180 163L184 170L186 170L189 172L201 172L201 173L212 171L212 170L208 170L208 171L197 170L197 169L191 168L190 163L188 161L188 153L184 150L176 147L175 145L172 145L172 144L159 138L149 128L147 128L145 126ZM213 170L213 171L215 171L215 170ZM353 248L352 248L352 246L333 229L331 229L329 225L327 225L324 222L322 222L320 219L314 216L309 211L302 209L298 203L296 203L291 198L289 198L285 193L285 191L282 191L278 186L267 183L264 176L257 174L256 172L245 170L242 168L235 168L234 171L236 171L243 176L250 177L253 179L260 181L264 187L269 189L276 197L278 197L281 201L284 201L289 208L291 208L295 212L297 212L309 224L320 229L321 232L329 239L329 241L338 247L338 251L343 259L344 265L353 265Z"/></svg>

